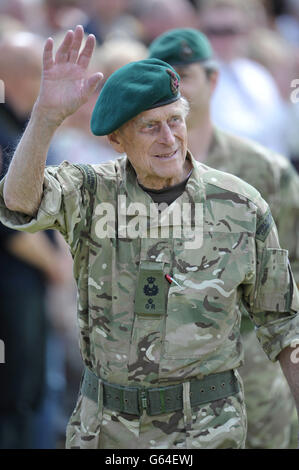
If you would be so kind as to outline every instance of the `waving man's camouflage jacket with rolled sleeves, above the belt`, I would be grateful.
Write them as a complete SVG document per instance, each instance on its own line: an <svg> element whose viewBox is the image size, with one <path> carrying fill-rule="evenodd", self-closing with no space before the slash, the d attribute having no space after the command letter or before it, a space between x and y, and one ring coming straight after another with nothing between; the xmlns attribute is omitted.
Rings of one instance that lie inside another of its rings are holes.
<svg viewBox="0 0 299 470"><path fill-rule="evenodd" d="M93 166L93 191L75 165L48 167L34 218L5 207L1 183L4 224L57 229L68 242L82 357L112 383L170 384L238 367L239 301L271 360L299 336L298 291L268 205L239 178L188 158L193 172L166 237L125 157Z"/></svg>

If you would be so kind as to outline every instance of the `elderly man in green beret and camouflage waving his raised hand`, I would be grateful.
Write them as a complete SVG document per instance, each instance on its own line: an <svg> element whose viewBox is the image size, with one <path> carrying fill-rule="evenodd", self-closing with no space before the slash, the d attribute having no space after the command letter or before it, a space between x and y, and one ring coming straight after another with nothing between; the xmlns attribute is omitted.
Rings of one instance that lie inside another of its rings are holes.
<svg viewBox="0 0 299 470"><path fill-rule="evenodd" d="M45 168L53 133L101 79L86 76L95 38L79 54L82 37L69 31L54 59L47 40L40 95L0 184L1 221L59 230L74 258L85 373L66 445L243 448L239 300L299 406L287 251L259 193L187 150L179 75L159 59L114 72L93 110L93 133L125 157Z"/></svg>

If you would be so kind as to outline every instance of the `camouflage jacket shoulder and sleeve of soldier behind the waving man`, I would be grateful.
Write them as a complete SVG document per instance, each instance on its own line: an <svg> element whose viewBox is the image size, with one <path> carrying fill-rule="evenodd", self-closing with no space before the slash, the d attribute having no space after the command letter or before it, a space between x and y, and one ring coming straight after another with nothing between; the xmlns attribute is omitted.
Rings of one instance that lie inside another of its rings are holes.
<svg viewBox="0 0 299 470"><path fill-rule="evenodd" d="M269 204L299 284L299 175L287 158L214 127L205 164L254 186Z"/></svg>

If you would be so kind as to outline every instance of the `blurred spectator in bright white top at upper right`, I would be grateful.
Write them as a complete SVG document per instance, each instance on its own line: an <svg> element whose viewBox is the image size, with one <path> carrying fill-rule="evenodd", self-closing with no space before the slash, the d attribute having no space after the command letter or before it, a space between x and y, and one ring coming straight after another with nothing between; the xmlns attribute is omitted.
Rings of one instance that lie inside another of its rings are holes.
<svg viewBox="0 0 299 470"><path fill-rule="evenodd" d="M284 106L275 81L247 55L251 31L266 22L261 2L199 0L197 17L197 27L219 61L220 76L211 101L213 122L288 157ZM229 115L224 100L230 103Z"/></svg>

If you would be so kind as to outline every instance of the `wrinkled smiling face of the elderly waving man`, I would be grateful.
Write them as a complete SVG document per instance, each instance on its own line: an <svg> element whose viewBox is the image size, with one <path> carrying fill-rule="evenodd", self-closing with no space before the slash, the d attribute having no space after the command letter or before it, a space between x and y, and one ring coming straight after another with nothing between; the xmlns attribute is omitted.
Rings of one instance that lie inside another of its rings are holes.
<svg viewBox="0 0 299 470"><path fill-rule="evenodd" d="M138 181L147 188L173 186L187 177L191 164L186 161L185 115L178 100L140 113L110 137L114 148L127 154Z"/></svg>

